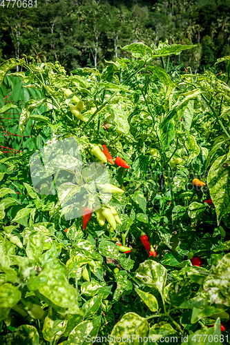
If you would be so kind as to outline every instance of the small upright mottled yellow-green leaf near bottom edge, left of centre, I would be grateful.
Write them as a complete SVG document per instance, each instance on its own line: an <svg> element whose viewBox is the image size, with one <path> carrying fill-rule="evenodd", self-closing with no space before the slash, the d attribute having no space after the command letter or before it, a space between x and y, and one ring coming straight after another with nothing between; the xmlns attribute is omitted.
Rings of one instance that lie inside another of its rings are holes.
<svg viewBox="0 0 230 345"><path fill-rule="evenodd" d="M59 339L59 337L61 337L61 335L64 333L66 326L67 315L60 315L57 313L57 311L50 307L42 328L44 339L46 339L48 342L52 342L54 339L57 341L57 339Z"/></svg>

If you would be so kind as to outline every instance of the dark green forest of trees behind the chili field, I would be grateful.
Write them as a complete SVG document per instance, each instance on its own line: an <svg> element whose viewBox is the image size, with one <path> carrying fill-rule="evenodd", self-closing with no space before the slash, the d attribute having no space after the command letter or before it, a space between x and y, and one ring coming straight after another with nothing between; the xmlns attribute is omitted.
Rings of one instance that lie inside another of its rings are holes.
<svg viewBox="0 0 230 345"><path fill-rule="evenodd" d="M102 70L105 60L126 57L120 46L169 39L170 44L197 46L171 56L168 65L165 61L168 71L191 66L193 72L203 72L230 54L229 0L37 0L37 8L12 4L0 7L0 61L25 54L37 62L59 61L68 72L86 66Z"/></svg>

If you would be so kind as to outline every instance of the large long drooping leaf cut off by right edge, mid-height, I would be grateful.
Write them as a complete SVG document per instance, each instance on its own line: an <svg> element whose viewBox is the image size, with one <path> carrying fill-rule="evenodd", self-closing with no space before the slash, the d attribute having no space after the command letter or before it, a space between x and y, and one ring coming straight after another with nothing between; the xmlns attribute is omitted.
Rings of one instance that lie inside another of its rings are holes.
<svg viewBox="0 0 230 345"><path fill-rule="evenodd" d="M215 159L207 178L210 196L215 206L215 212L218 219L218 226L220 225L222 217L230 210L229 168L224 168L222 166L226 159L227 155Z"/></svg>

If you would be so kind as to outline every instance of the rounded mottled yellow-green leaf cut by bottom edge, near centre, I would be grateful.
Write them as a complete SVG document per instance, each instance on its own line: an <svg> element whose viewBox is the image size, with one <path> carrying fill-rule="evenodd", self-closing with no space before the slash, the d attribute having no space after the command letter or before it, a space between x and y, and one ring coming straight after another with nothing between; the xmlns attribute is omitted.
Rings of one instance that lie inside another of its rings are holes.
<svg viewBox="0 0 230 345"><path fill-rule="evenodd" d="M113 327L113 331L111 332L111 338L113 340L111 340L108 344L126 345L127 337L131 337L132 344L137 345L140 344L140 341L138 341L138 335L139 337L144 338L148 336L148 332L149 325L144 317L140 317L135 313L126 313Z"/></svg>

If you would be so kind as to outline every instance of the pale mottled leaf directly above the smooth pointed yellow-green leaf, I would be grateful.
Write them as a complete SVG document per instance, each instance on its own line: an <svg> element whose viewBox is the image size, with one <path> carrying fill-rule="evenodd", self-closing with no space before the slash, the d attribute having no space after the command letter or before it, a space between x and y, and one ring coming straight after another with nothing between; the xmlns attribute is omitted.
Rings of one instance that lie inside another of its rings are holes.
<svg viewBox="0 0 230 345"><path fill-rule="evenodd" d="M140 264L139 268L137 268L135 272L135 278L140 279L144 285L150 288L157 288L161 293L166 284L166 277L166 268L154 260L146 260Z"/></svg>

